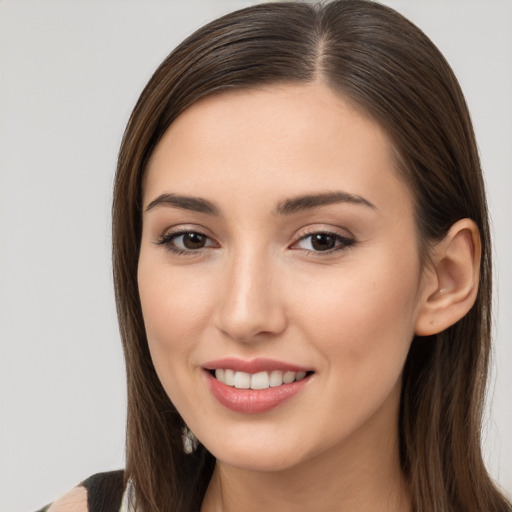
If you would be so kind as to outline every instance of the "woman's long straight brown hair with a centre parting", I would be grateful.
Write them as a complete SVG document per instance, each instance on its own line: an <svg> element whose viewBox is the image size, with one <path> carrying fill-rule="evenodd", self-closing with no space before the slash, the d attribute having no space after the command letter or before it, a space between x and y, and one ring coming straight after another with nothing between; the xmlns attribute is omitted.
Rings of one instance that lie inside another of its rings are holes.
<svg viewBox="0 0 512 512"><path fill-rule="evenodd" d="M446 331L412 342L403 375L400 455L423 512L510 511L482 461L490 353L491 246L471 120L458 82L412 23L367 0L262 4L192 34L160 65L124 134L115 182L113 260L128 379L126 476L143 512L199 510L214 458L182 445L184 423L156 375L137 290L141 180L169 125L214 91L320 81L390 137L416 204L423 256L465 217L482 239L474 307Z"/></svg>

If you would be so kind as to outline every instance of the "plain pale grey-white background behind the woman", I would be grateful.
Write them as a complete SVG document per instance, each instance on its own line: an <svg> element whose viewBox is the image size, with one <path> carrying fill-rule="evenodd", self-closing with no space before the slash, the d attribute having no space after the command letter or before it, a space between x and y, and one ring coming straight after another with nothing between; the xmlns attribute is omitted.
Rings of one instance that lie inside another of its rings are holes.
<svg viewBox="0 0 512 512"><path fill-rule="evenodd" d="M110 201L152 71L242 0L0 0L0 510L35 510L123 467L124 366ZM499 287L492 474L512 493L512 2L386 2L445 53L473 114Z"/></svg>

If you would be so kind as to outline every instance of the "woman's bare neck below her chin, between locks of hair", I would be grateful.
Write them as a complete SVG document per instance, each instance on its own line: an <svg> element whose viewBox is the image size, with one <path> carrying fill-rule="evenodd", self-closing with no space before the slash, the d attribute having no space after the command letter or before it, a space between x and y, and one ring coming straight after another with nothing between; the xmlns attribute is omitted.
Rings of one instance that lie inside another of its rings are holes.
<svg viewBox="0 0 512 512"><path fill-rule="evenodd" d="M389 428L368 425L340 445L288 469L254 471L218 461L201 510L411 512L396 422L383 423Z"/></svg>

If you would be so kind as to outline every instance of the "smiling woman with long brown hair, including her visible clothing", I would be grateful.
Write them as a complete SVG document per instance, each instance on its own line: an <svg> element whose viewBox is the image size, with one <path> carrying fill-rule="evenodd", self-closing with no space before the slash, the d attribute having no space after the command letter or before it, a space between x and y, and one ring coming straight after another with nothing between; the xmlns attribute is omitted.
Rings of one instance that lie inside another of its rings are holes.
<svg viewBox="0 0 512 512"><path fill-rule="evenodd" d="M511 510L474 134L403 17L266 4L190 36L128 123L113 238L127 466L50 510Z"/></svg>

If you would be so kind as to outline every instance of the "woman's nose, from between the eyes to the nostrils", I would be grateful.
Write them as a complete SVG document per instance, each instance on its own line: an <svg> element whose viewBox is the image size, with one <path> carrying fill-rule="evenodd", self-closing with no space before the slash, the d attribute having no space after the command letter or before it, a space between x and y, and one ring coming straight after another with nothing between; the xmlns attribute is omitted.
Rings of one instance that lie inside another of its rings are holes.
<svg viewBox="0 0 512 512"><path fill-rule="evenodd" d="M250 249L226 262L215 322L229 338L248 343L281 334L287 326L279 269Z"/></svg>

